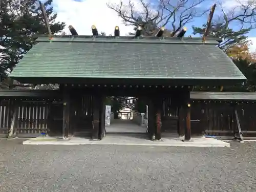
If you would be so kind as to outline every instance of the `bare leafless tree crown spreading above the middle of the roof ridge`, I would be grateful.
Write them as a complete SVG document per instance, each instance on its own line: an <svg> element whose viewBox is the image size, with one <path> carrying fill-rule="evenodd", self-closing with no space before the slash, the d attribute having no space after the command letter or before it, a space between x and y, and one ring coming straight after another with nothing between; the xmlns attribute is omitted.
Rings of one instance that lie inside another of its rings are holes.
<svg viewBox="0 0 256 192"><path fill-rule="evenodd" d="M187 23L193 22L195 17L202 16L207 10L202 10L200 4L207 0L157 0L153 4L146 0L138 0L138 4L130 0L127 5L123 2L120 4L107 4L114 10L118 16L123 19L126 26L143 28L143 35L154 35L160 27L171 24L171 29L164 35L169 36L180 30Z"/></svg>

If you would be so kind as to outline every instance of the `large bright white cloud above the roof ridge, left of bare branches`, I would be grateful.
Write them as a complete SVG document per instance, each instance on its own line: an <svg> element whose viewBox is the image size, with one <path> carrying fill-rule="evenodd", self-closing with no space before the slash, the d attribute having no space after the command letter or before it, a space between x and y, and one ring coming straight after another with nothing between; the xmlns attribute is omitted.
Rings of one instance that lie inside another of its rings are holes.
<svg viewBox="0 0 256 192"><path fill-rule="evenodd" d="M92 25L106 35L113 35L115 26L119 26L121 36L132 32L133 27L124 26L117 13L106 6L109 2L118 4L120 0L54 0L52 5L54 12L58 14L56 20L67 24L67 34L70 34L69 25L72 25L79 35L92 35Z"/></svg>

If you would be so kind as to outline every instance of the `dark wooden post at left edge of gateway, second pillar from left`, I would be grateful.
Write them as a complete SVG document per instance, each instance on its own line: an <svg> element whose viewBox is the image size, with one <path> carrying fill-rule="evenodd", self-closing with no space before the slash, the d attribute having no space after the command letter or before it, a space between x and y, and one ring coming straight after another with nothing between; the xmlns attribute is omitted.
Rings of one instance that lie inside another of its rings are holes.
<svg viewBox="0 0 256 192"><path fill-rule="evenodd" d="M101 97L99 95L94 95L93 98L93 130L92 130L92 139L99 139L99 130L100 130L100 110L101 109Z"/></svg>

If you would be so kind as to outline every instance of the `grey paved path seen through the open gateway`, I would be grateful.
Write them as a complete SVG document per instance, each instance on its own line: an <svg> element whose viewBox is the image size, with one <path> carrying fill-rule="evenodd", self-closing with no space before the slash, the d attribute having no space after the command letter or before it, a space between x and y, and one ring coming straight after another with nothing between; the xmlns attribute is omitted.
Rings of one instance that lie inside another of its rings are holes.
<svg viewBox="0 0 256 192"><path fill-rule="evenodd" d="M146 133L146 126L139 126L133 120L114 119L106 126L106 133Z"/></svg>

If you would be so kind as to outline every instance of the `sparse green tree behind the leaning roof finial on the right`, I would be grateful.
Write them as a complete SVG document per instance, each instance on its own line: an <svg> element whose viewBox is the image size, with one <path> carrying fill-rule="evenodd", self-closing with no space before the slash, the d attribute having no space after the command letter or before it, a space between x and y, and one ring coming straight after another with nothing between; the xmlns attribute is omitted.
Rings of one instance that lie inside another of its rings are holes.
<svg viewBox="0 0 256 192"><path fill-rule="evenodd" d="M219 47L225 52L233 46L247 43L246 34L256 27L256 4L254 0L248 2L238 1L230 6L226 7L221 3L217 5L214 19L207 34L208 37L223 39ZM205 28L206 24L202 27L193 26L193 34L202 36Z"/></svg>

